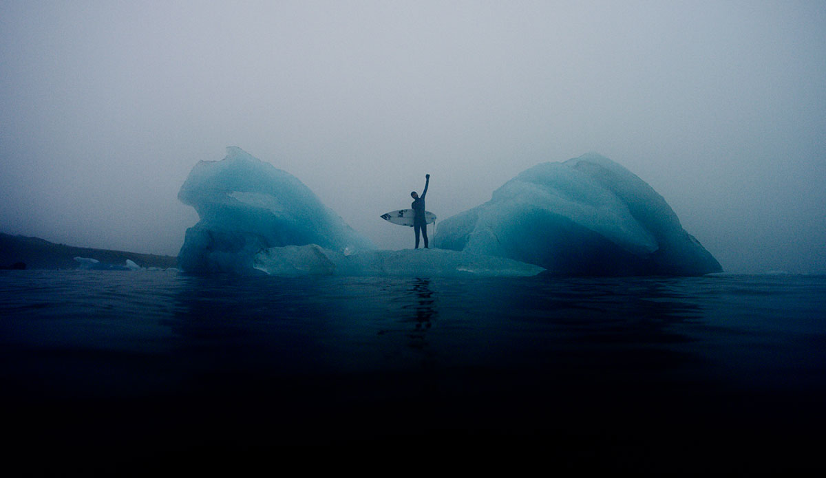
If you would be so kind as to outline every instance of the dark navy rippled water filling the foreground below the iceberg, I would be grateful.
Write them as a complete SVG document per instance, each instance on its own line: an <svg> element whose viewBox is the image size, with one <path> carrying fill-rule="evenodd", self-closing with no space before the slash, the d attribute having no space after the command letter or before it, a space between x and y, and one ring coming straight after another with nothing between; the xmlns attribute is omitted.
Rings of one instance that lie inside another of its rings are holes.
<svg viewBox="0 0 826 478"><path fill-rule="evenodd" d="M235 470L305 445L824 468L826 277L2 271L0 354L5 462L35 473Z"/></svg>

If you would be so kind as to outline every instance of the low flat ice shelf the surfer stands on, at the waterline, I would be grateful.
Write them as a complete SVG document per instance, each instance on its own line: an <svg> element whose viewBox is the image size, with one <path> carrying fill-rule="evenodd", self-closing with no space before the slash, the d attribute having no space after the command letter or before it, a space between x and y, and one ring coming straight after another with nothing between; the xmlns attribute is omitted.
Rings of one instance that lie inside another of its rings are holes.
<svg viewBox="0 0 826 478"><path fill-rule="evenodd" d="M255 255L254 267L273 276L528 277L544 271L507 258L444 249L344 255L316 244L265 249Z"/></svg>

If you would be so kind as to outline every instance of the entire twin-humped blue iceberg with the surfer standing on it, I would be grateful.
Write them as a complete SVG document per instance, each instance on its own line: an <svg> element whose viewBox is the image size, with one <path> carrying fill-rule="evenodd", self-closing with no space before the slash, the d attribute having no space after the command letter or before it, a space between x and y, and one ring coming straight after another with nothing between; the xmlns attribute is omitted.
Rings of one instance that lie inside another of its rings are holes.
<svg viewBox="0 0 826 478"><path fill-rule="evenodd" d="M374 250L296 177L239 148L228 148L221 161L197 163L178 198L200 216L178 254L188 272L445 277L530 276L543 268L588 275L721 271L662 196L598 154L529 168L491 201L444 220L437 244L451 250Z"/></svg>

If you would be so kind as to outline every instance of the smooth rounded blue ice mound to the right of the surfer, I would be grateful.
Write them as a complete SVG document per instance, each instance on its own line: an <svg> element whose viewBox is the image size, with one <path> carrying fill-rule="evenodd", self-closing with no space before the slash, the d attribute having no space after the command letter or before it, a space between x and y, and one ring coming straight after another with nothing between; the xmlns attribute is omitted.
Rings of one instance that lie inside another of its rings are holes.
<svg viewBox="0 0 826 478"><path fill-rule="evenodd" d="M439 247L559 274L701 275L722 268L646 182L585 154L529 168L481 206L443 220Z"/></svg>

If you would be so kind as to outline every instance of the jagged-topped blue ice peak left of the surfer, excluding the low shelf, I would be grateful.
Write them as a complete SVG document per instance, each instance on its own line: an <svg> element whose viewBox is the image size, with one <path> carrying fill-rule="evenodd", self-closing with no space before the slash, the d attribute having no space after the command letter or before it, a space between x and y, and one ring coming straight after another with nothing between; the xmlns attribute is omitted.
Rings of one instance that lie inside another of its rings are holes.
<svg viewBox="0 0 826 478"><path fill-rule="evenodd" d="M178 199L195 208L178 265L188 272L251 272L257 253L318 244L336 252L373 249L297 177L240 148L192 168Z"/></svg>

